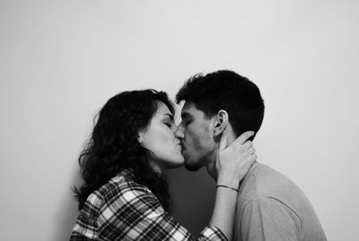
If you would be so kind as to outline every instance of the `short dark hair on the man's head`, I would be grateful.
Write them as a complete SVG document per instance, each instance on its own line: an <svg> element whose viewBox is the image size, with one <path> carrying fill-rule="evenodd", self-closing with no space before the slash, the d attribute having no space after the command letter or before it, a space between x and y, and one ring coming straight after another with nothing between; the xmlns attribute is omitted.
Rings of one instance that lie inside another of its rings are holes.
<svg viewBox="0 0 359 241"><path fill-rule="evenodd" d="M264 101L256 84L229 70L220 70L190 77L176 95L193 102L206 117L215 116L220 109L227 111L234 133L258 133L264 117ZM254 138L254 136L253 136Z"/></svg>

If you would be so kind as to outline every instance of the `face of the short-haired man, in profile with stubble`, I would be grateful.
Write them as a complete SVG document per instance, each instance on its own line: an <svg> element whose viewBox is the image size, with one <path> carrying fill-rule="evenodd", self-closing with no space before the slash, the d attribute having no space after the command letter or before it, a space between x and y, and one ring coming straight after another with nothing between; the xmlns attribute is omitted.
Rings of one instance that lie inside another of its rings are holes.
<svg viewBox="0 0 359 241"><path fill-rule="evenodd" d="M186 101L181 111L182 121L176 131L180 138L185 167L197 170L215 158L213 121L192 102Z"/></svg>

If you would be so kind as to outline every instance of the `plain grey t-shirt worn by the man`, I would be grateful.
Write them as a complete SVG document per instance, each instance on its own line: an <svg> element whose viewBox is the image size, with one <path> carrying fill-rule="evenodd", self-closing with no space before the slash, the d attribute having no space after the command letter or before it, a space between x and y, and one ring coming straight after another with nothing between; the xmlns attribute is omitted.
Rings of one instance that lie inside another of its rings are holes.
<svg viewBox="0 0 359 241"><path fill-rule="evenodd" d="M311 202L289 178L256 162L241 182L237 241L325 241Z"/></svg>

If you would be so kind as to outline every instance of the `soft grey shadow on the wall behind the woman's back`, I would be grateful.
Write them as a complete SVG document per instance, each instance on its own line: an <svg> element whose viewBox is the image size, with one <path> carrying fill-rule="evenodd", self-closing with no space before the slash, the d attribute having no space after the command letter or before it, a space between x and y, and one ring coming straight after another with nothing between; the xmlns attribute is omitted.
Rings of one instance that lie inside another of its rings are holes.
<svg viewBox="0 0 359 241"><path fill-rule="evenodd" d="M54 217L54 223L57 230L54 232L54 241L69 240L71 230L74 227L74 222L78 216L77 201L74 198L74 192L72 187L80 184L80 177L78 172L74 172L71 178L71 186L68 187L68 191L62 197L62 202L57 207L57 212Z"/></svg>

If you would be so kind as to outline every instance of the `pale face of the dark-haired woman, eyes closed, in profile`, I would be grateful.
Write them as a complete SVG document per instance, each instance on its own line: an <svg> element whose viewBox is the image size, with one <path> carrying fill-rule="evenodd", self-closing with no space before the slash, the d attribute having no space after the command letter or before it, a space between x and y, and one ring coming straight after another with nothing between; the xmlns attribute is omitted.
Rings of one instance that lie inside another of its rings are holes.
<svg viewBox="0 0 359 241"><path fill-rule="evenodd" d="M139 142L155 156L154 168L178 168L183 165L180 139L174 135L176 130L170 109L158 101L150 125L138 133Z"/></svg>

